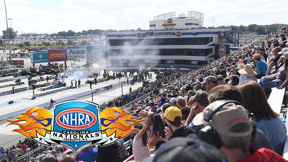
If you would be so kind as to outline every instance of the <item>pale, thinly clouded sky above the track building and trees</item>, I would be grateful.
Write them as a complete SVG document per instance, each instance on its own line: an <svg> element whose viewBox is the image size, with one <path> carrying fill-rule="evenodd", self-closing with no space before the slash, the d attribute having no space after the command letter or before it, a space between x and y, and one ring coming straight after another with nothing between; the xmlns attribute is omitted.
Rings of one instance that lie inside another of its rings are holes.
<svg viewBox="0 0 288 162"><path fill-rule="evenodd" d="M0 5L0 30L6 30L4 0ZM169 12L204 14L203 26L288 23L286 1L268 0L6 0L7 18L20 33L58 33L89 29L149 29L153 17ZM11 27L8 20L8 27ZM2 32L0 32L2 35Z"/></svg>

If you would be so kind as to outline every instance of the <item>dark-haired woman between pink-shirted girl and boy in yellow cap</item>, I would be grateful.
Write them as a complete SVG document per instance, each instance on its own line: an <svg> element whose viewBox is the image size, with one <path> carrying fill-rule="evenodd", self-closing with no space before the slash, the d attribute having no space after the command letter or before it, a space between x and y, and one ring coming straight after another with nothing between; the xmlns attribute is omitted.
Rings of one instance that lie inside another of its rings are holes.
<svg viewBox="0 0 288 162"><path fill-rule="evenodd" d="M164 134L164 129L165 129L169 133L169 135L172 135L172 134L171 134L170 129L168 127L165 127L162 121L162 118L159 114L153 115L151 117L151 124L152 124L150 127L151 135L148 140L148 147L152 148L155 146L155 149L158 149L160 145L165 142L160 138L160 136L158 135L158 132L160 133L160 135L161 133ZM150 153L154 153L154 150L152 152L150 151Z"/></svg>

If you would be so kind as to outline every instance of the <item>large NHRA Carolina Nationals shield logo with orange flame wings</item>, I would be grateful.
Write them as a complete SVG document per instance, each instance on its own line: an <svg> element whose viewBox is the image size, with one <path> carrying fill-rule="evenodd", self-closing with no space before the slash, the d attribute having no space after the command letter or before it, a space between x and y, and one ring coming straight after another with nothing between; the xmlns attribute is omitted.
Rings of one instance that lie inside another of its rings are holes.
<svg viewBox="0 0 288 162"><path fill-rule="evenodd" d="M29 126L28 129L12 131L41 144L63 144L75 153L91 144L106 145L124 138L139 131L132 129L133 125L146 120L137 120L137 117L116 107L105 109L100 114L98 106L85 100L67 100L55 104L52 114L43 108L31 108L16 117L16 120L6 120L10 122L8 125L16 124L19 128Z"/></svg>

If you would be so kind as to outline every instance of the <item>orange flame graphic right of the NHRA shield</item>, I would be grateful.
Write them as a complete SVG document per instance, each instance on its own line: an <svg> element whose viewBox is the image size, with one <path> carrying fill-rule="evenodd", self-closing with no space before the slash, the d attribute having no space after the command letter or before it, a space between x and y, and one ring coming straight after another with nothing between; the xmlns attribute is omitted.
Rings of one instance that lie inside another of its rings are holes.
<svg viewBox="0 0 288 162"><path fill-rule="evenodd" d="M115 115L114 112L119 113L119 115ZM138 129L131 128L135 124L142 124L140 122L145 120L135 120L134 118L137 117L132 117L130 113L126 113L120 108L105 109L100 114L101 131L102 133L106 132L107 136L116 131L115 137L123 138L132 132L139 131ZM131 121L132 123L128 124L125 121Z"/></svg>

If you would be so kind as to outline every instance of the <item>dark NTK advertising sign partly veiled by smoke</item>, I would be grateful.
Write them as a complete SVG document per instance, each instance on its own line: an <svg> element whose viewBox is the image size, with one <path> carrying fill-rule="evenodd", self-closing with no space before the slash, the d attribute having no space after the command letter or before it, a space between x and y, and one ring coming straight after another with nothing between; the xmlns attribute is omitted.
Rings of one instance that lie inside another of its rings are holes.
<svg viewBox="0 0 288 162"><path fill-rule="evenodd" d="M108 58L108 46L106 45L93 45L86 46L88 60L100 60Z"/></svg>

